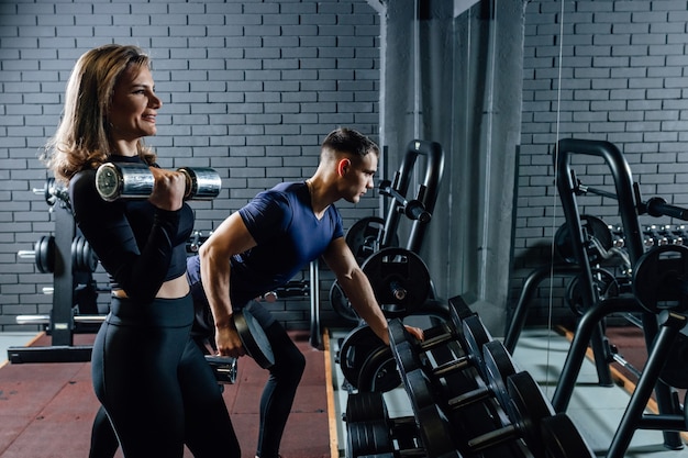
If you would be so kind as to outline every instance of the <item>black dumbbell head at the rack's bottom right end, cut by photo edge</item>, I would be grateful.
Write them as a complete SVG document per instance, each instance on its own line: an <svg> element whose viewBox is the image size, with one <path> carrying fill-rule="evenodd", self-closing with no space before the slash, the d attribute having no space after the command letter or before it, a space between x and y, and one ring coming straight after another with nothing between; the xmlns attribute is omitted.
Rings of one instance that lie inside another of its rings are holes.
<svg viewBox="0 0 688 458"><path fill-rule="evenodd" d="M566 413L543 418L540 427L547 458L596 458Z"/></svg>

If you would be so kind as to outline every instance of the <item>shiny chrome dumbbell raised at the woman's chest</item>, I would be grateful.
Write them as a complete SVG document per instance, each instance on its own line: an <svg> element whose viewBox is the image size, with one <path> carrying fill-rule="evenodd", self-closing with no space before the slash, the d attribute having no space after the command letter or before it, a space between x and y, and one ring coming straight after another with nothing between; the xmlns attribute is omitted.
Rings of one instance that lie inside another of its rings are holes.
<svg viewBox="0 0 688 458"><path fill-rule="evenodd" d="M186 200L211 200L220 193L222 180L212 168L181 167L177 171L186 178ZM106 163L96 171L96 189L108 202L147 198L154 185L153 174L144 164Z"/></svg>

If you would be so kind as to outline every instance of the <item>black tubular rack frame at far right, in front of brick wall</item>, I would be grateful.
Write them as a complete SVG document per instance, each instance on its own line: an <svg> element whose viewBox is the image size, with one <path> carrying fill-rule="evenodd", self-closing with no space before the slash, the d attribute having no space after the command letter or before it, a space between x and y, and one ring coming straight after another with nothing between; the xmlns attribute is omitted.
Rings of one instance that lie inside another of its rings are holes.
<svg viewBox="0 0 688 458"><path fill-rule="evenodd" d="M610 193L582 186L572 170L570 163L574 154L602 158L609 166L613 177L615 192ZM624 249L628 252L629 264L633 267L637 265L646 247L639 223L639 215L665 215L680 219L686 216L686 212L683 209L667 204L662 199L651 199L647 202L643 202L640 196L640 188L632 180L629 164L621 152L609 142L576 138L562 139L557 144L555 158L558 194L562 200L566 222L570 227L570 241L576 258L576 267L585 280L580 283L580 297L585 313L576 327L574 340L564 362L552 404L557 412L566 410L589 344L592 344L600 384L602 375L606 376L606 381L609 378L608 381L611 384L608 367L609 359L607 358L601 333L601 321L612 313L640 313L648 357L607 457L623 457L631 437L637 428L661 429L664 434L664 445L667 448L681 448L684 445L678 431L683 431L685 425L674 422L673 418L678 413L674 395L670 387L658 379L661 368L667 364L667 349L675 342L679 332L677 327L679 326L678 319L680 315L668 310L662 311L659 314L653 313L647 308L641 305L635 295L631 293L603 299L597 297L598 291L591 279L592 269L585 247L585 234L579 220L576 198L591 193L617 201L624 234ZM641 281L635 273L633 287ZM645 281L642 282L646 284ZM650 299L652 309L653 302L652 298ZM658 367L658 369L655 369L655 367ZM656 395L659 414L650 418L643 414L643 410L653 390ZM666 423L663 424L663 422Z"/></svg>

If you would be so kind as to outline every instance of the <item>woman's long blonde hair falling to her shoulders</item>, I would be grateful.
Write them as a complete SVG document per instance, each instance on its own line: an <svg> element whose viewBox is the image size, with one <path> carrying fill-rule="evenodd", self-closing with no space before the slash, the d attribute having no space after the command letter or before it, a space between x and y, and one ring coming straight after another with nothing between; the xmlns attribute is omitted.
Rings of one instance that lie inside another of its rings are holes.
<svg viewBox="0 0 688 458"><path fill-rule="evenodd" d="M112 92L131 65L149 68L151 59L137 46L110 44L90 49L77 60L67 82L62 120L41 156L56 179L69 181L76 172L108 161ZM156 160L143 139L136 148L147 164Z"/></svg>

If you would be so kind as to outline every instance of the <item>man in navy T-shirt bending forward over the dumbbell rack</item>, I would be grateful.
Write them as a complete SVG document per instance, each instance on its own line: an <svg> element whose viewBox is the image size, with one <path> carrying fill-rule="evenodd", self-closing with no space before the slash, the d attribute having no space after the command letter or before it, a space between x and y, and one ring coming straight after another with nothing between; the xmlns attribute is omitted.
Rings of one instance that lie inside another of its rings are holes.
<svg viewBox="0 0 688 458"><path fill-rule="evenodd" d="M260 399L256 456L277 458L306 360L284 327L258 302L322 256L358 315L389 344L387 320L346 245L340 199L356 203L374 188L379 148L360 133L337 129L323 141L315 174L258 193L230 215L199 249L202 288L220 355L245 355L232 313L246 308L265 329L275 365ZM408 327L418 338L422 331Z"/></svg>

